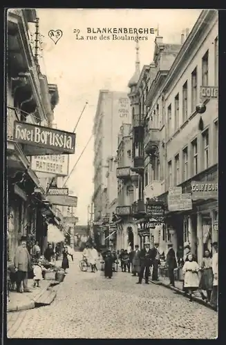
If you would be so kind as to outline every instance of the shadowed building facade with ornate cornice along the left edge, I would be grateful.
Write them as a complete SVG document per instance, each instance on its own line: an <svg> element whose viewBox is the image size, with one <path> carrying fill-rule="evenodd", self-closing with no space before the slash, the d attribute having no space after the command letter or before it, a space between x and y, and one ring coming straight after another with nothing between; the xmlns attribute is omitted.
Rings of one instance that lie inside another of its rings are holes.
<svg viewBox="0 0 226 345"><path fill-rule="evenodd" d="M30 46L28 24L38 23L35 10L10 9L7 23L7 245L8 261L12 261L22 235L28 238L29 249L39 241L43 253L48 223L55 219L43 198L48 179L41 181L30 168L30 155L14 139L15 121L51 128L59 96L57 86L52 84L50 88L41 74Z"/></svg>

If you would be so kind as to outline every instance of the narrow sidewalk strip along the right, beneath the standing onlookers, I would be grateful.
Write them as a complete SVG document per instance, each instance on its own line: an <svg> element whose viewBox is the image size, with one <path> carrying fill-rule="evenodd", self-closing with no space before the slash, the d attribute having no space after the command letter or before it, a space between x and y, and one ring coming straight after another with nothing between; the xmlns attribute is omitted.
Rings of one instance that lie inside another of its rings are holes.
<svg viewBox="0 0 226 345"><path fill-rule="evenodd" d="M183 285L182 282L176 280L175 281L175 287L174 287L174 286L169 285L169 279L168 278L165 278L165 277L158 277L158 278L159 278L158 281L153 281L150 279L150 282L153 284L165 286L166 288L170 288L171 290L175 291L176 293L180 293L180 295L185 295L185 291L182 290L182 285ZM187 296L185 296L185 297L187 297ZM194 299L194 301L198 302L199 304L203 304L204 306L207 306L207 308L215 310L214 307L209 304L209 302L203 301L203 299L200 297L200 293L198 291L195 291L193 293L193 299Z"/></svg>

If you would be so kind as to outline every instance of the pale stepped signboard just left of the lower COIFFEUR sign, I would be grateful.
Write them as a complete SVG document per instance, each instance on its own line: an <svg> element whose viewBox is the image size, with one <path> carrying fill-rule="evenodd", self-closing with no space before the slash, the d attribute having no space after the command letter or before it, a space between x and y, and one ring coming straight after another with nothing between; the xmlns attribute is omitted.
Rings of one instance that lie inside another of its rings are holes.
<svg viewBox="0 0 226 345"><path fill-rule="evenodd" d="M192 210L191 194L182 194L181 187L171 188L167 199L168 209L171 212Z"/></svg>

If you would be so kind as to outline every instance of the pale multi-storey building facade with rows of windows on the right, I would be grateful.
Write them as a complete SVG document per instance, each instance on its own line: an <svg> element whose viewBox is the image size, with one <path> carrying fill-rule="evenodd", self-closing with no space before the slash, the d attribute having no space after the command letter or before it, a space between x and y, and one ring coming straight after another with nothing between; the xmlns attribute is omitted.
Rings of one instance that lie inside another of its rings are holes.
<svg viewBox="0 0 226 345"><path fill-rule="evenodd" d="M144 152L148 160L157 157L144 166L144 194L151 197L155 190L165 205L162 250L167 242L176 250L189 243L200 263L204 248L211 250L218 239L218 99L203 98L208 86L218 87L217 11L203 10L158 83L161 59L160 54L146 101ZM203 102L200 115L196 106Z"/></svg>

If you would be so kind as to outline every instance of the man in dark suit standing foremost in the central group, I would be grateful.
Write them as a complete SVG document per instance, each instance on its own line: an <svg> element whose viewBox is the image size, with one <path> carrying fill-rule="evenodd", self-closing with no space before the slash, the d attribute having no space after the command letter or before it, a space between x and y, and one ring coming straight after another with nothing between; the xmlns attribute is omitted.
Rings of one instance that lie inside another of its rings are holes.
<svg viewBox="0 0 226 345"><path fill-rule="evenodd" d="M153 264L153 250L150 249L150 243L144 243L144 249L140 250L140 274L139 280L136 284L142 284L143 276L145 283L149 284L150 267Z"/></svg>

